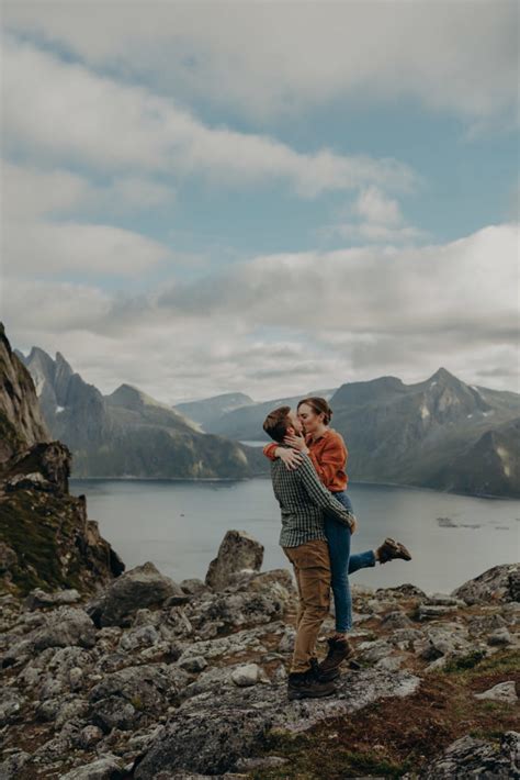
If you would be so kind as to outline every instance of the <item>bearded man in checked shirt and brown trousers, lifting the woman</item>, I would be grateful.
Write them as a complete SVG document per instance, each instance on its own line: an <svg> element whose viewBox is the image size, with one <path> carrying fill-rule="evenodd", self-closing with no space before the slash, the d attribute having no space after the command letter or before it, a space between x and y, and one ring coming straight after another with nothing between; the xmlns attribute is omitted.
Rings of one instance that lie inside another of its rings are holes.
<svg viewBox="0 0 520 780"><path fill-rule="evenodd" d="M263 430L279 444L286 435L302 435L302 423L290 406L270 412ZM280 545L292 562L299 603L297 632L291 672L289 699L330 695L341 661L351 654L347 640L331 646L326 660L317 667L316 640L329 612L330 560L324 531L324 511L355 531L355 517L321 484L307 455L294 469L287 470L281 459L271 464L274 495L282 511Z"/></svg>

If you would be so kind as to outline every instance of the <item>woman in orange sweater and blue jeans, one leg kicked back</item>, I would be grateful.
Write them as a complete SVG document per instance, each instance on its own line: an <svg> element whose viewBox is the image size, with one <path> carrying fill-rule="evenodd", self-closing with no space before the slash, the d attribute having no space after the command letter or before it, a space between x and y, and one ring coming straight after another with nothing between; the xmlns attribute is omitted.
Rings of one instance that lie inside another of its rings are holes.
<svg viewBox="0 0 520 780"><path fill-rule="evenodd" d="M325 487L353 513L352 502L347 494L348 450L342 436L329 427L332 410L324 398L312 397L299 401L297 414L304 426L305 438L286 436L286 447L268 444L263 448L264 455L270 459L281 458L289 469L297 467L301 454L308 455ZM375 566L376 561L386 564L395 558L411 560L411 556L404 545L391 538L386 538L375 550L350 555L350 530L327 514L325 534L329 546L336 612L336 635L332 642L344 642L347 632L352 627L352 599L348 576L358 569Z"/></svg>

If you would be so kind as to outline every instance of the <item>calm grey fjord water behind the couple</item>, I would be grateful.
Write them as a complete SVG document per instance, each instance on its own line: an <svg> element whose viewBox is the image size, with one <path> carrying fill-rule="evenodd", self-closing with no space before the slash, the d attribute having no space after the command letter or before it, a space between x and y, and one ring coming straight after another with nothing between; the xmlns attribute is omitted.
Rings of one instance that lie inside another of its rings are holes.
<svg viewBox="0 0 520 780"><path fill-rule="evenodd" d="M263 544L264 570L290 568L278 545L280 511L269 479L72 480L71 493L87 495L89 517L99 522L127 569L151 560L177 581L204 579L229 528L247 531ZM414 556L410 562L358 571L352 582L377 588L411 582L445 593L491 566L520 558L520 501L374 484L352 484L349 494L359 520L353 551L392 536Z"/></svg>

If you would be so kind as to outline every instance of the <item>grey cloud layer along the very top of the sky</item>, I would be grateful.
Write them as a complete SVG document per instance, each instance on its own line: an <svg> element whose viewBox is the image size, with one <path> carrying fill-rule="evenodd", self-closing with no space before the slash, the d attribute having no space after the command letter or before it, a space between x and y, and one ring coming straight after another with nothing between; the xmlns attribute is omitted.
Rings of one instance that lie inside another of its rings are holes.
<svg viewBox="0 0 520 780"><path fill-rule="evenodd" d="M112 0L95 14L84 1L11 2L4 18L94 67L256 118L411 98L478 124L517 103L515 0L135 3L124 13Z"/></svg>

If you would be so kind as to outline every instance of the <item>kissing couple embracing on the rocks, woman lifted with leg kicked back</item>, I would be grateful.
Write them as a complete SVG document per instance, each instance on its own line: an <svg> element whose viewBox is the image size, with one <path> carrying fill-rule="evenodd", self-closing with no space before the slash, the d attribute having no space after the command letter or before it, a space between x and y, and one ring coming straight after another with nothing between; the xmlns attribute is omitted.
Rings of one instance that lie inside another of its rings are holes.
<svg viewBox="0 0 520 780"><path fill-rule="evenodd" d="M406 547L386 538L375 550L350 554L357 528L347 490L347 447L329 427L332 410L323 398L306 398L297 410L280 406L263 430L274 441L263 452L272 460L271 479L282 513L280 545L294 568L298 589L296 638L287 682L289 699L330 695L341 664L352 655L349 575L400 558ZM336 632L327 657L318 664L316 642L329 612L332 588Z"/></svg>

